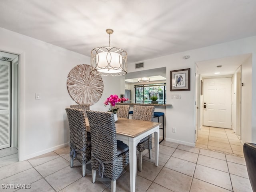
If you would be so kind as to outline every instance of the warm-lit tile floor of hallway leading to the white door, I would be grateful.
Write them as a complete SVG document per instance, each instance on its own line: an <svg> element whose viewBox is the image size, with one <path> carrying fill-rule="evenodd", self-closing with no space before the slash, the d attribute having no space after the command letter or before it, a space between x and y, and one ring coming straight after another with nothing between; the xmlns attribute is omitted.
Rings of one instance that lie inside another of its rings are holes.
<svg viewBox="0 0 256 192"><path fill-rule="evenodd" d="M243 144L231 129L202 126L198 130L196 147L244 157Z"/></svg>

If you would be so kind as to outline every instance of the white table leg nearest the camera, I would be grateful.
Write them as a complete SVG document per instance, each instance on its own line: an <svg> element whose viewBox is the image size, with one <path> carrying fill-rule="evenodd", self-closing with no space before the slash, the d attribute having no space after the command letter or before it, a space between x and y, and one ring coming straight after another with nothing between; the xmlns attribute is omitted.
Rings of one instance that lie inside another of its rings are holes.
<svg viewBox="0 0 256 192"><path fill-rule="evenodd" d="M136 145L132 138L129 138L129 162L130 162L130 192L135 192L136 181Z"/></svg>

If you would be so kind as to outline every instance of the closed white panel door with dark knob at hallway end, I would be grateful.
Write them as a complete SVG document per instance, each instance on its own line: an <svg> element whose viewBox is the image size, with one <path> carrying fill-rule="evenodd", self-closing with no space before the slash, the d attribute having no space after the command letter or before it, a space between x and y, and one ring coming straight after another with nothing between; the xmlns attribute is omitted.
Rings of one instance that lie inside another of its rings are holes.
<svg viewBox="0 0 256 192"><path fill-rule="evenodd" d="M204 79L204 126L231 129L232 78Z"/></svg>

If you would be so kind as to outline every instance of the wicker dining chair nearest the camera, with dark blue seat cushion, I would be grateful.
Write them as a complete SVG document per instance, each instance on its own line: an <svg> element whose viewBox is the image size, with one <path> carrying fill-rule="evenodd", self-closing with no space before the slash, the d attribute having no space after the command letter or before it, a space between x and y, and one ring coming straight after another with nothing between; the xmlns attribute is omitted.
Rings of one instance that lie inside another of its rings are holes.
<svg viewBox="0 0 256 192"><path fill-rule="evenodd" d="M129 163L129 148L116 139L114 114L110 112L87 111L92 139L92 182L96 170L100 176L111 179L111 191L116 191L116 179Z"/></svg>

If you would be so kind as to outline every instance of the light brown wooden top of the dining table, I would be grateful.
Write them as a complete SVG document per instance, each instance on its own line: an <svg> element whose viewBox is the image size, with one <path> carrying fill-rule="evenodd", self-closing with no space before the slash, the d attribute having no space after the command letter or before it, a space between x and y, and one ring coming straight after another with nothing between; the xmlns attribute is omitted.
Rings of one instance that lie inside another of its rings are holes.
<svg viewBox="0 0 256 192"><path fill-rule="evenodd" d="M151 121L141 121L134 119L118 118L116 121L116 133L128 137L135 138L136 136L159 126L161 123ZM86 118L86 126L89 128L90 124Z"/></svg>

